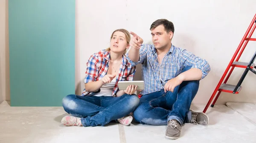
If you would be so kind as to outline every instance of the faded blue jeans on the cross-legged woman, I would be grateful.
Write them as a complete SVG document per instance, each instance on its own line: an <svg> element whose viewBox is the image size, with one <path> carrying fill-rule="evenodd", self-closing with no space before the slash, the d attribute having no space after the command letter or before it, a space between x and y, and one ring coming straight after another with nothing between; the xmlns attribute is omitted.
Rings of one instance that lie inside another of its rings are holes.
<svg viewBox="0 0 256 143"><path fill-rule="evenodd" d="M139 102L135 94L120 97L67 95L62 106L70 115L80 117L83 126L104 126L133 112Z"/></svg>

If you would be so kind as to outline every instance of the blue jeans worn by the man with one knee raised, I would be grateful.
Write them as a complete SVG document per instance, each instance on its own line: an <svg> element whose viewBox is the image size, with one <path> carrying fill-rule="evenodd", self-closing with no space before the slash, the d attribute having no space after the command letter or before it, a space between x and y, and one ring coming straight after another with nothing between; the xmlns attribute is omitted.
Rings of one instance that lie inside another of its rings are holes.
<svg viewBox="0 0 256 143"><path fill-rule="evenodd" d="M185 67L182 72L189 70ZM133 112L135 121L150 125L167 125L171 119L177 120L180 125L189 123L192 115L189 111L192 100L198 92L199 80L183 81L171 91L160 90L143 95L140 104Z"/></svg>

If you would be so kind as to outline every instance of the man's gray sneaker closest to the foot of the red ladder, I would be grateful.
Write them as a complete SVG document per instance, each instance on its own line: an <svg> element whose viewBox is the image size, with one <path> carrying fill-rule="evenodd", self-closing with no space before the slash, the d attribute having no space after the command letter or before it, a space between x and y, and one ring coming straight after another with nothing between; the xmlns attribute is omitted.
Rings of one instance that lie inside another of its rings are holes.
<svg viewBox="0 0 256 143"><path fill-rule="evenodd" d="M194 110L190 109L192 113L192 119L190 123L193 123L195 125L207 125L209 122L208 116L203 112L195 112Z"/></svg>

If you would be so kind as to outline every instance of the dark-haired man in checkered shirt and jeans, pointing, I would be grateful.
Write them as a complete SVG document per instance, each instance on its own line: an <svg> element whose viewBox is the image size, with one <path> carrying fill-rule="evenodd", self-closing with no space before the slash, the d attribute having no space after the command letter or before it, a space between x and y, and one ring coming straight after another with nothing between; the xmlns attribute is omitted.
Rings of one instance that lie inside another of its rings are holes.
<svg viewBox="0 0 256 143"><path fill-rule="evenodd" d="M145 82L134 118L143 124L168 125L166 137L177 139L183 123L208 124L206 114L189 108L199 80L207 76L210 66L206 60L172 45L172 22L156 20L150 30L153 45L142 44L143 39L131 32L127 59L133 66L142 64Z"/></svg>

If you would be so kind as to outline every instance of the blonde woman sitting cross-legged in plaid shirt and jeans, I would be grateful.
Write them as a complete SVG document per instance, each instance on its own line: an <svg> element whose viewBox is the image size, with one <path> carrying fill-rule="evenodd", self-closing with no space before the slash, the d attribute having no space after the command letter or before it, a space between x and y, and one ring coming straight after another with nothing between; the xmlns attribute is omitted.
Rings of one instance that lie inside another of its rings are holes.
<svg viewBox="0 0 256 143"><path fill-rule="evenodd" d="M139 104L134 92L137 86L129 85L119 90L118 81L132 81L136 67L125 58L131 36L125 29L111 35L110 48L90 56L87 62L85 89L82 95L67 95L62 100L64 110L70 115L62 118L65 126L104 126L110 121L129 125L129 115Z"/></svg>

